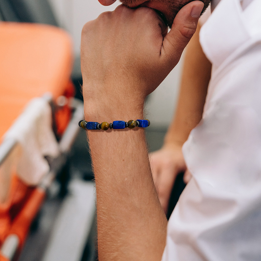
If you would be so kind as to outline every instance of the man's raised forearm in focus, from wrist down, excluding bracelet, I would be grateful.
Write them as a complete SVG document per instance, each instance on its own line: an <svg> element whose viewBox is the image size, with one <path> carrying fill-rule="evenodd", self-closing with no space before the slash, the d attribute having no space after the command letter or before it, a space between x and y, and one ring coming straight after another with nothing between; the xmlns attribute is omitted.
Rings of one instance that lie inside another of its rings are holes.
<svg viewBox="0 0 261 261"><path fill-rule="evenodd" d="M86 113L86 120L143 119L143 108L132 108L135 104L124 110L99 108L99 115ZM99 260L160 260L167 220L153 183L144 129L88 131L88 138L97 192Z"/></svg>

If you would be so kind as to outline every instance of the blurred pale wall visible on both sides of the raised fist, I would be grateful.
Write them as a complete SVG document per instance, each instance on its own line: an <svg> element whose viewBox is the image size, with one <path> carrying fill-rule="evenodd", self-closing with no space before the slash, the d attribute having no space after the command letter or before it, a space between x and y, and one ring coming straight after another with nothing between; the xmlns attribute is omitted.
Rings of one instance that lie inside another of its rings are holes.
<svg viewBox="0 0 261 261"><path fill-rule="evenodd" d="M58 22L65 28L74 40L75 55L80 54L81 29L87 21L96 19L104 11L112 11L119 2L110 6L102 6L98 0L49 0ZM182 59L181 59L182 62ZM176 105L178 85L180 81L179 63L154 91L147 102L147 118L151 127L167 126L172 119L173 108Z"/></svg>

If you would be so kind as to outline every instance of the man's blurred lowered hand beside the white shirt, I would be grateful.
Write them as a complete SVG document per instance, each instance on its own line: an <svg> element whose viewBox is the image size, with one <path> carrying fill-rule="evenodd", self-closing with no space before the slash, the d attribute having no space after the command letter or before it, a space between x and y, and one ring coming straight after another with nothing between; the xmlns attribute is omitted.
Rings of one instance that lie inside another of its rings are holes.
<svg viewBox="0 0 261 261"><path fill-rule="evenodd" d="M151 154L150 164L159 201L167 214L171 190L177 174L186 170L182 146L169 144Z"/></svg>

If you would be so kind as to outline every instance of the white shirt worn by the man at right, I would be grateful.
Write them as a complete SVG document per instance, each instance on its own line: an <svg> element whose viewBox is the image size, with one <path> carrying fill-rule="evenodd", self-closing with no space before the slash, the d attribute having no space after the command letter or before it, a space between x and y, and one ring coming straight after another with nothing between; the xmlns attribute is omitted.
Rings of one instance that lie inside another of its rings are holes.
<svg viewBox="0 0 261 261"><path fill-rule="evenodd" d="M261 1L221 0L200 32L212 62L203 119L183 146L192 173L163 261L261 260Z"/></svg>

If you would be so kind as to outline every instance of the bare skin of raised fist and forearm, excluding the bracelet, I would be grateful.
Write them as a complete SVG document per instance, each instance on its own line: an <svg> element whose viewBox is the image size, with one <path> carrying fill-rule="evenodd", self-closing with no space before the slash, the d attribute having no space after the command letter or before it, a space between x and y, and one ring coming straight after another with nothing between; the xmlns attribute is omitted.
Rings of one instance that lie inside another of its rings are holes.
<svg viewBox="0 0 261 261"><path fill-rule="evenodd" d="M145 97L179 61L202 8L200 1L183 7L168 34L158 14L146 7L121 5L86 23L81 40L85 119L143 119ZM99 260L161 260L167 220L153 182L144 129L88 131L88 139Z"/></svg>

